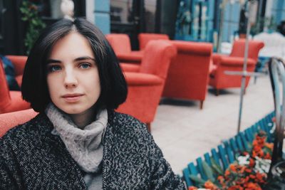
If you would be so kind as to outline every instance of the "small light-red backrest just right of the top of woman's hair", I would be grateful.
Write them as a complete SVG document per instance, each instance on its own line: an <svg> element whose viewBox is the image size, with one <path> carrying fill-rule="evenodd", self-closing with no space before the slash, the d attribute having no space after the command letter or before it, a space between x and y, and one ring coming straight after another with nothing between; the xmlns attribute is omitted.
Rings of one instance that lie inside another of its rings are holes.
<svg viewBox="0 0 285 190"><path fill-rule="evenodd" d="M110 33L105 35L108 42L112 46L115 54L130 53L132 51L130 46L130 38L125 33Z"/></svg>

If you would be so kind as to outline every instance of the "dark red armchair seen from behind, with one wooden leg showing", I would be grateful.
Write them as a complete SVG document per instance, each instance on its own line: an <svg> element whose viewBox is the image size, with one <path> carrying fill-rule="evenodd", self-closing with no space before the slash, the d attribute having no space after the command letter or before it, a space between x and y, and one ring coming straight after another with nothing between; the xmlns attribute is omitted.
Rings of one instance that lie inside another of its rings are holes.
<svg viewBox="0 0 285 190"><path fill-rule="evenodd" d="M211 43L171 41L177 56L168 71L163 97L199 100L200 109L207 95Z"/></svg>

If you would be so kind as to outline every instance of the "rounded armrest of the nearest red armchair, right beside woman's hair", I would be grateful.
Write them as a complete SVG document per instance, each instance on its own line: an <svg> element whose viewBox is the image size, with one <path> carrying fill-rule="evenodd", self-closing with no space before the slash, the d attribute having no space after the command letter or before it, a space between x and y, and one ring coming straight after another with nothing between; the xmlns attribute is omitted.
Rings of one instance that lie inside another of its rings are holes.
<svg viewBox="0 0 285 190"><path fill-rule="evenodd" d="M151 86L151 85L162 85L162 78L157 77L156 75L146 74L146 73L125 73L125 79L129 86Z"/></svg>

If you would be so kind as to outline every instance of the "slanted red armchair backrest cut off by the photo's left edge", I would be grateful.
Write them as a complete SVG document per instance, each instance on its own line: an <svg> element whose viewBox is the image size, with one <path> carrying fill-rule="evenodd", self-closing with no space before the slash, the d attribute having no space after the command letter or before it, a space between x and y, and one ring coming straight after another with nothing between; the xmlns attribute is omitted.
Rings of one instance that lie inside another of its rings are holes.
<svg viewBox="0 0 285 190"><path fill-rule="evenodd" d="M0 107L7 107L11 103L9 94L9 86L6 80L6 75L3 63L0 60Z"/></svg>

